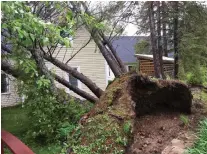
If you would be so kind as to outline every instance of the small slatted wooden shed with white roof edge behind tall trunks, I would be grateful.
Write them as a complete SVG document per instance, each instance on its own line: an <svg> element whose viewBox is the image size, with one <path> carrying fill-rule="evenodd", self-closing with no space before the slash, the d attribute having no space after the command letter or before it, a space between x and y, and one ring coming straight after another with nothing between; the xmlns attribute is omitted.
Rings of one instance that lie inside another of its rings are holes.
<svg viewBox="0 0 207 154"><path fill-rule="evenodd" d="M154 76L154 63L153 55L146 54L135 54L138 60L138 69L140 73ZM169 57L162 57L163 59L163 69L165 76L173 76L174 72L174 59Z"/></svg>

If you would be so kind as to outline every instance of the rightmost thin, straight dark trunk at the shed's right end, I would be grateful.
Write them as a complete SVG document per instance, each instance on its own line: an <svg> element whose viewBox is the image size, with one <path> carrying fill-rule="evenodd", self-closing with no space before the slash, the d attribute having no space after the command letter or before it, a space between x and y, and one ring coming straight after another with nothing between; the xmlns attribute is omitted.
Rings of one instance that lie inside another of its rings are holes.
<svg viewBox="0 0 207 154"><path fill-rule="evenodd" d="M174 30L173 30L173 37L174 37L174 78L178 79L178 1L174 2Z"/></svg>

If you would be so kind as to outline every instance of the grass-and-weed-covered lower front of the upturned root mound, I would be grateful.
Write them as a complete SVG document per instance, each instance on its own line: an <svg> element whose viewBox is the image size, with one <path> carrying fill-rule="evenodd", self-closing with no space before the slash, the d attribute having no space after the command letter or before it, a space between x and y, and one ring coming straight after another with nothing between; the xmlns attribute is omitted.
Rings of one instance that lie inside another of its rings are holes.
<svg viewBox="0 0 207 154"><path fill-rule="evenodd" d="M89 118L68 141L75 154L123 154L128 136L122 124L107 114L101 114Z"/></svg>

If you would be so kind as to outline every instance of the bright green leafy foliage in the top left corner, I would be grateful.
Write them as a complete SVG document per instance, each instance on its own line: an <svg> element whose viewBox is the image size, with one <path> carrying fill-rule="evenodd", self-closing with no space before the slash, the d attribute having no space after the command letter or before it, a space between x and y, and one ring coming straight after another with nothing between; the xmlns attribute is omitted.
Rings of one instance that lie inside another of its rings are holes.
<svg viewBox="0 0 207 154"><path fill-rule="evenodd" d="M44 3L44 2L42 2ZM48 3L52 5L52 3ZM60 2L56 2L55 6L59 9ZM51 6L50 6L51 7ZM66 47L69 47L69 40L60 36L60 31L65 30L65 27L45 22L34 16L29 6L25 2L3 2L3 28L11 29L14 44L23 44L25 47L33 46L34 40L41 42L42 45L54 45L57 42L63 42ZM74 24L72 12L69 10L64 19L67 19L66 26L70 27L67 30L70 36L74 34L72 26ZM71 21L71 23L70 23Z"/></svg>

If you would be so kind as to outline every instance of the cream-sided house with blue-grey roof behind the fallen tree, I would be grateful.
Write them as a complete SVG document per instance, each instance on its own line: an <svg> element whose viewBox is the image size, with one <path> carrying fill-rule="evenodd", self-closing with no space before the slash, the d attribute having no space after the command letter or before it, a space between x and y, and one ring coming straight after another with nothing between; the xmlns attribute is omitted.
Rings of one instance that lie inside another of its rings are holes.
<svg viewBox="0 0 207 154"><path fill-rule="evenodd" d="M54 51L55 57L62 61L66 62L74 53L76 53L83 45L88 42L90 39L90 34L84 29L80 28L77 30L76 35L74 36L73 40L71 41L71 47L66 48L57 48ZM126 65L127 70L131 70L133 66L136 66L136 58L135 58L135 44L144 39L143 37L131 37L131 36L121 36L113 38L112 45L116 49L118 55L120 56L121 60ZM96 46L94 41L90 41L86 47L84 47L71 61L68 62L68 65L77 69L79 72L83 73L87 77L89 77L93 82L95 82L101 89L105 90L110 80L114 79L114 74L109 68L106 60L100 53L98 47ZM72 77L70 74L62 71L61 69L54 66L52 63L46 61L46 66L54 71L56 74L61 76L62 78L69 81L72 85L77 86L78 88L86 91L93 95L93 93L88 89L88 87L81 83L76 78ZM8 78L9 79L9 78ZM3 81L3 80L2 80ZM55 82L58 88L64 88L65 91L75 97L79 97L70 89L66 88L65 86L61 85L58 82ZM21 99L17 99L16 89L15 89L15 82L6 80L2 83L6 84L8 87L7 92L2 91L1 102L2 105L13 105L21 101ZM14 90L13 90L14 89ZM14 94L15 93L15 94ZM8 99L8 98L15 98L16 99ZM6 100L9 100L6 101Z"/></svg>

